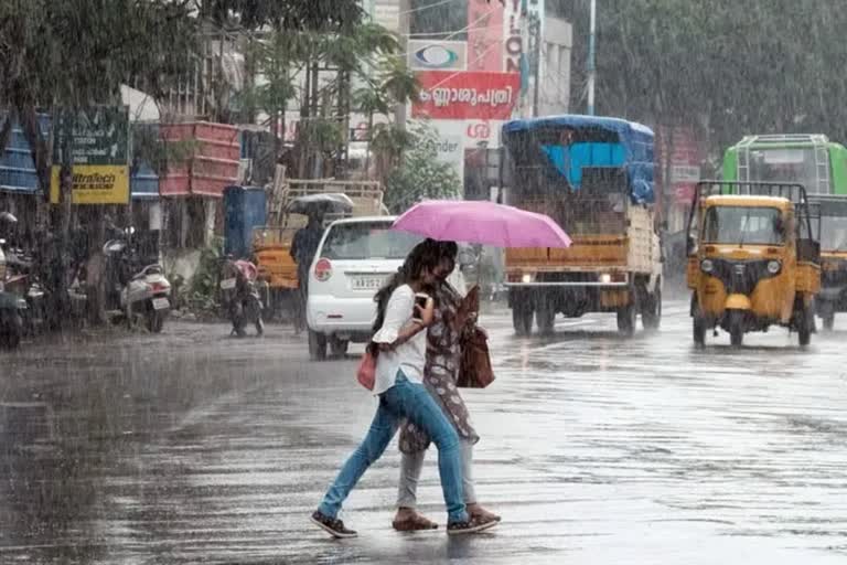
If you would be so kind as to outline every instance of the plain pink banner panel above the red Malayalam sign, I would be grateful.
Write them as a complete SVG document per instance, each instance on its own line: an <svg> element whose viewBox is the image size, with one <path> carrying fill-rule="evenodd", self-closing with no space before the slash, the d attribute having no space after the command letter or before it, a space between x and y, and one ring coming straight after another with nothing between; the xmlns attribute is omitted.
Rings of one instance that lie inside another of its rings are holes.
<svg viewBox="0 0 847 565"><path fill-rule="evenodd" d="M468 1L468 71L503 71L503 10L500 2Z"/></svg>

